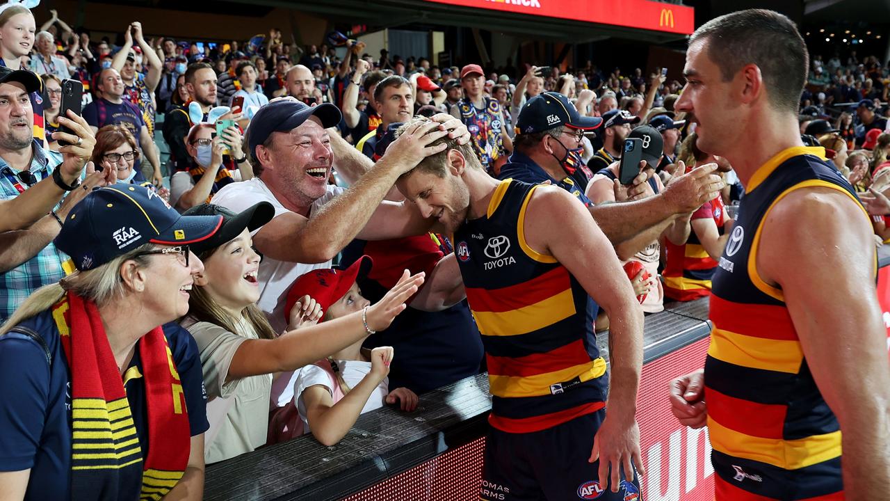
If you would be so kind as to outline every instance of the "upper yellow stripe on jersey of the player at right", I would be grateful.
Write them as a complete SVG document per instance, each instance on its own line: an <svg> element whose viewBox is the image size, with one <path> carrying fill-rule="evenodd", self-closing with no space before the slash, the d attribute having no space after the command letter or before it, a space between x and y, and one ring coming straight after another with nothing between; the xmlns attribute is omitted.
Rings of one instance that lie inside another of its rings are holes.
<svg viewBox="0 0 890 501"><path fill-rule="evenodd" d="M804 363L799 341L771 340L713 329L708 355L729 364L797 374Z"/></svg>

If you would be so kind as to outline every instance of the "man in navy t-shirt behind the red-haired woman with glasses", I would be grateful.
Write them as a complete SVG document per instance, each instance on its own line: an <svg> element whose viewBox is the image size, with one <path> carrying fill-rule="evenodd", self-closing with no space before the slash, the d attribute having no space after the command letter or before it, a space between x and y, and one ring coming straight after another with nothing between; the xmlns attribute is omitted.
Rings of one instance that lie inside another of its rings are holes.
<svg viewBox="0 0 890 501"><path fill-rule="evenodd" d="M120 78L120 74L113 68L102 70L96 81L96 87L101 91L101 97L84 108L84 119L93 128L93 134L109 124L126 127L130 134L139 138L142 157L149 160L154 171L152 183L162 185L164 178L161 176L161 164L155 142L149 134L149 127L145 125L142 112L135 104L124 100L124 81Z"/></svg>

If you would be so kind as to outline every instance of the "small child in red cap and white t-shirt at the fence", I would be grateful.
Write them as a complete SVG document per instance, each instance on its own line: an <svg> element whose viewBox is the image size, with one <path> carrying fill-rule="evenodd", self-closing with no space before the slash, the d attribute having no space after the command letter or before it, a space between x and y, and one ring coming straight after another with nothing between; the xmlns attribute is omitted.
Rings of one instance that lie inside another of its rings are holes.
<svg viewBox="0 0 890 501"><path fill-rule="evenodd" d="M324 316L322 321L336 321L368 308L361 296L358 275L367 275L371 259L363 256L344 271L317 269L297 278L287 295L291 304L306 296L316 300ZM367 333L368 335L370 333ZM407 388L389 391L389 365L392 347L361 349L362 341L332 352L326 359L300 369L294 383L294 399L303 431L332 446L344 438L359 415L383 407L384 402L401 402L401 410L413 411L417 395Z"/></svg>

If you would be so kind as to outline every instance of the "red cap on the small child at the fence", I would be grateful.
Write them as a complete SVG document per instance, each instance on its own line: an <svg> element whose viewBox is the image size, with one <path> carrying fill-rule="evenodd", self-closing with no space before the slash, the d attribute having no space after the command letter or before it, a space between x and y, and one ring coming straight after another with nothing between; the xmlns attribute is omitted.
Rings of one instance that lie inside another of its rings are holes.
<svg viewBox="0 0 890 501"><path fill-rule="evenodd" d="M288 321L290 309L294 308L296 301L305 295L316 300L324 315L328 308L349 292L355 280L368 275L374 262L368 256L362 256L352 263L351 267L344 270L336 268L313 269L311 272L300 275L296 279L290 291L287 292L287 301L284 308L284 319Z"/></svg>

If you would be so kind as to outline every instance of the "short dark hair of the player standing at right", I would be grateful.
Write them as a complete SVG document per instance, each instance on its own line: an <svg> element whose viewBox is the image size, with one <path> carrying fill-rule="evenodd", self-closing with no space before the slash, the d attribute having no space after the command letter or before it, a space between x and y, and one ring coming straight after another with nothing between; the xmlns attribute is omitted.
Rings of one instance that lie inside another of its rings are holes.
<svg viewBox="0 0 890 501"><path fill-rule="evenodd" d="M724 81L746 64L756 64L773 107L797 113L809 54L788 17L765 9L732 12L696 29L689 44L699 40L707 41L708 58L720 68Z"/></svg>

